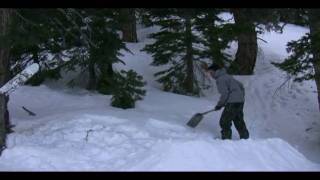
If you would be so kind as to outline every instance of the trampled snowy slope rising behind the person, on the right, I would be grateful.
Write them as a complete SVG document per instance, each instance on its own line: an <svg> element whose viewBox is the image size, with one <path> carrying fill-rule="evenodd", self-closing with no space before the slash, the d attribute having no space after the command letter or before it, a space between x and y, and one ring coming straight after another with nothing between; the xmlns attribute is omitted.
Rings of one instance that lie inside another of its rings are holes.
<svg viewBox="0 0 320 180"><path fill-rule="evenodd" d="M314 81L294 83L286 73L270 62L283 61L288 56L286 43L299 39L307 29L287 25L284 34L266 33L260 41L262 53L257 61L255 76L242 78L247 82L248 120L254 121L256 136L279 137L292 144L307 158L320 163L320 112ZM246 79L246 80L245 80ZM250 114L250 115L249 115Z"/></svg>

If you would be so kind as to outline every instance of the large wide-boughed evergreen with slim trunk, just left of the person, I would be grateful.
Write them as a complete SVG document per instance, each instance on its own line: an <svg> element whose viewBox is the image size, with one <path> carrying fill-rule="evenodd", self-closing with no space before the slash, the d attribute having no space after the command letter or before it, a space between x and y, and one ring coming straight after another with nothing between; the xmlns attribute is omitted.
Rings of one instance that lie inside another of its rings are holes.
<svg viewBox="0 0 320 180"><path fill-rule="evenodd" d="M161 31L151 34L155 42L143 50L153 55L152 65L167 67L155 74L165 91L199 95L199 81L194 68L205 57L216 61L225 58L222 50L227 43L219 40L221 29L215 24L217 13L213 9L157 9L147 12L145 22L160 26Z"/></svg>

